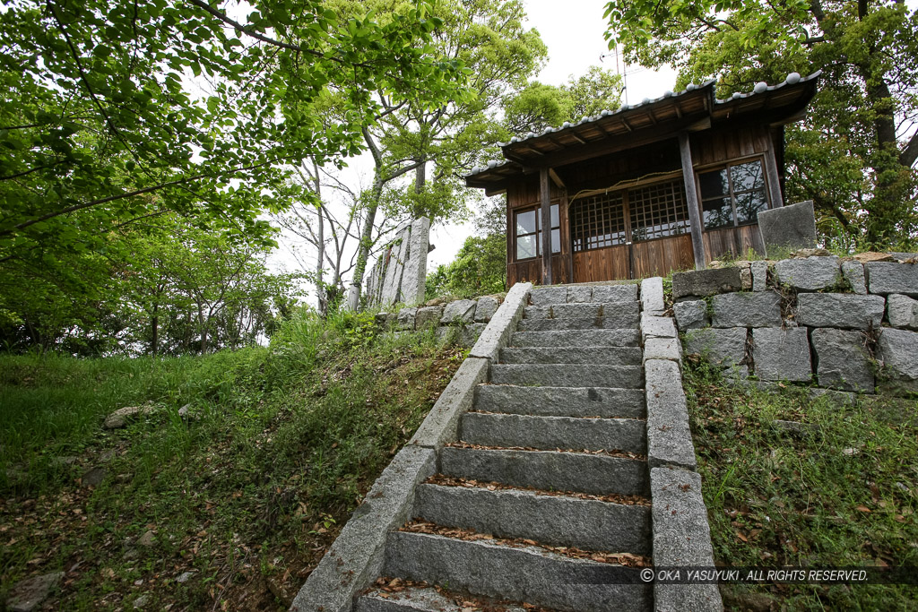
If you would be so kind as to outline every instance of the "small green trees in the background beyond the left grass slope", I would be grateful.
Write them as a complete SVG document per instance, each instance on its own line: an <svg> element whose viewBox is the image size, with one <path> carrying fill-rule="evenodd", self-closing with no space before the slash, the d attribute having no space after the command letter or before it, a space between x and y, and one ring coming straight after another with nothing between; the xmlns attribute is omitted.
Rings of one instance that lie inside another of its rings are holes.
<svg viewBox="0 0 918 612"><path fill-rule="evenodd" d="M260 239L174 215L118 233L108 257L11 260L0 267L7 351L181 354L239 348L270 335L296 302L300 274L272 274Z"/></svg>

